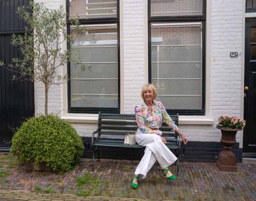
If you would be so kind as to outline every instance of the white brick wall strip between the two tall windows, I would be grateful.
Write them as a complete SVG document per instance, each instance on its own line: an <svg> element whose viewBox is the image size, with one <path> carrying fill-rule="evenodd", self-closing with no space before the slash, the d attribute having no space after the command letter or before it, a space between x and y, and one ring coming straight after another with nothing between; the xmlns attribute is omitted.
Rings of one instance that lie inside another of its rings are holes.
<svg viewBox="0 0 256 201"><path fill-rule="evenodd" d="M145 79L144 31L147 31L144 27L144 12L147 11L144 10L143 0L123 2L124 113L133 113L135 105L142 101L140 92Z"/></svg>

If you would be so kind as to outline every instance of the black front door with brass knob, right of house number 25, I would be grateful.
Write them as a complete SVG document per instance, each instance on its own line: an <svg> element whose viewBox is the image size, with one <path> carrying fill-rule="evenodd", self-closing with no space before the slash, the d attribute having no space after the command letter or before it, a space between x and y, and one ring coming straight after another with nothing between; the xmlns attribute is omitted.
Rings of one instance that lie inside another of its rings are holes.
<svg viewBox="0 0 256 201"><path fill-rule="evenodd" d="M256 157L256 19L245 20L243 156Z"/></svg>

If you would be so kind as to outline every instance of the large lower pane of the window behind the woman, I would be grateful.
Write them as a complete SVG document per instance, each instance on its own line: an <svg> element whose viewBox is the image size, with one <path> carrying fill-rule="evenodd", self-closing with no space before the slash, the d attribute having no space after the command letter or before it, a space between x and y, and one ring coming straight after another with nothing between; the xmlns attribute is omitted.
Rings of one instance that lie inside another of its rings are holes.
<svg viewBox="0 0 256 201"><path fill-rule="evenodd" d="M151 81L159 100L167 109L201 109L201 23L151 25Z"/></svg>

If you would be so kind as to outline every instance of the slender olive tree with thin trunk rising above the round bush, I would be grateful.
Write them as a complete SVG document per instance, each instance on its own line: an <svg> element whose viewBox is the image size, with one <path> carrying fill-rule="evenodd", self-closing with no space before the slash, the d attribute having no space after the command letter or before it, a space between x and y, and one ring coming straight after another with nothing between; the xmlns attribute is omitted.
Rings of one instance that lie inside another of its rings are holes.
<svg viewBox="0 0 256 201"><path fill-rule="evenodd" d="M25 26L24 35L12 35L11 44L19 47L22 58L13 58L8 66L0 61L0 66L18 72L20 76L14 75L13 79L23 78L44 83L45 115L47 116L50 86L70 80L67 74L61 75L60 68L72 62L74 68L79 67L81 71L91 69L91 66L85 66L80 61L79 50L71 55L75 38L82 35L86 27L79 24L79 16L67 19L68 14L64 12L63 5L58 9L49 9L44 3L31 1L28 6L17 8L17 13L27 26ZM71 24L72 34L67 32L67 23ZM68 48L63 49L62 47L66 44Z"/></svg>

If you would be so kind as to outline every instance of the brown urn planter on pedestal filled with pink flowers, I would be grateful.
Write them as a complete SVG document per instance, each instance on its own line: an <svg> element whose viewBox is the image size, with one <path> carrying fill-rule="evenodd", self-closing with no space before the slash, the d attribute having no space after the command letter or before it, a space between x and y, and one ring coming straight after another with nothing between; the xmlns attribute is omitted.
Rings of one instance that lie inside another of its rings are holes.
<svg viewBox="0 0 256 201"><path fill-rule="evenodd" d="M236 172L236 156L231 151L232 145L236 144L236 133L245 126L245 120L237 116L220 116L218 118L217 129L221 130L220 142L224 144L224 150L218 155L216 163L220 171Z"/></svg>

